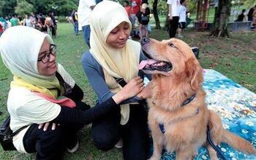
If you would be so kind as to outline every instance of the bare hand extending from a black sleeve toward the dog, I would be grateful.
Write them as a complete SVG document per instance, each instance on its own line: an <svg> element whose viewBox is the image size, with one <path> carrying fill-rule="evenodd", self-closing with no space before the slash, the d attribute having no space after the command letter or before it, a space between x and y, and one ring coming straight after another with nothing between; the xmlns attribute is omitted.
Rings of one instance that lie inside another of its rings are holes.
<svg viewBox="0 0 256 160"><path fill-rule="evenodd" d="M135 77L127 85L124 86L119 92L116 93L112 98L116 104L121 103L124 100L127 100L129 97L137 95L143 90L143 79L140 76Z"/></svg>

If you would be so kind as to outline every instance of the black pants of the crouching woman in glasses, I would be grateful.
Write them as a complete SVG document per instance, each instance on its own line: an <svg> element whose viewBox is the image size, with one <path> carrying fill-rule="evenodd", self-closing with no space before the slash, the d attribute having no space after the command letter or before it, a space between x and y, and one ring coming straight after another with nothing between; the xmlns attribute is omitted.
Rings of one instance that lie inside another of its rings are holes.
<svg viewBox="0 0 256 160"><path fill-rule="evenodd" d="M89 106L74 109L86 110ZM23 137L23 145L27 153L37 153L36 159L62 159L64 149L74 146L77 141L77 132L84 124L61 124L55 130L49 125L47 131L38 129L39 124L32 124Z"/></svg>

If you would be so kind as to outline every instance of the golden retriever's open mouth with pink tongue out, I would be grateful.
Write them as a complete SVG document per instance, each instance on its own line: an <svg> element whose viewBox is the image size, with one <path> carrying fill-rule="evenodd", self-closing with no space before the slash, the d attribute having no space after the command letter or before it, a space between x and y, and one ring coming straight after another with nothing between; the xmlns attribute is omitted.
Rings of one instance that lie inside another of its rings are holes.
<svg viewBox="0 0 256 160"><path fill-rule="evenodd" d="M171 63L168 63L164 60L155 60L152 59L148 53L143 51L144 55L148 57L148 60L143 60L140 62L139 69L144 71L164 71L168 72L171 71L173 68L173 65Z"/></svg>

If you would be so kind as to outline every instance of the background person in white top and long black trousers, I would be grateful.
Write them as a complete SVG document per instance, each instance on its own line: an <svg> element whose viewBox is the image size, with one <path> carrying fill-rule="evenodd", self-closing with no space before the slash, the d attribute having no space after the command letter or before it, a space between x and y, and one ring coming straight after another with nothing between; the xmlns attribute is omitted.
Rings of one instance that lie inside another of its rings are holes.
<svg viewBox="0 0 256 160"><path fill-rule="evenodd" d="M169 16L169 36L175 38L178 28L178 6L180 0L167 0Z"/></svg>

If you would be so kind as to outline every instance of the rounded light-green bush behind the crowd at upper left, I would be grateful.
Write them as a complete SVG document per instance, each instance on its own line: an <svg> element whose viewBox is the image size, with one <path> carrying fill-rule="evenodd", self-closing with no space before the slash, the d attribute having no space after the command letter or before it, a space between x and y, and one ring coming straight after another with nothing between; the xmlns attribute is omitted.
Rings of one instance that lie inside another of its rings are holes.
<svg viewBox="0 0 256 160"><path fill-rule="evenodd" d="M15 13L20 16L30 14L33 11L34 7L32 4L29 4L26 0L18 0L17 6L15 7Z"/></svg>

